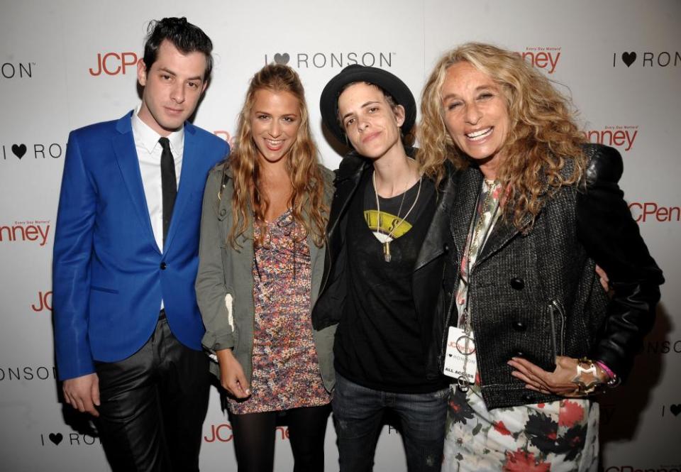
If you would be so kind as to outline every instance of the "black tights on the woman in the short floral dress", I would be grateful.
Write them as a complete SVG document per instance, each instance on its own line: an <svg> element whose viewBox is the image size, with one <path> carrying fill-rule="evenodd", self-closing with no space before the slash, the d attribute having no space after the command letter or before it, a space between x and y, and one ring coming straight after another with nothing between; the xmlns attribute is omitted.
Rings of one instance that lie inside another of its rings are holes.
<svg viewBox="0 0 681 472"><path fill-rule="evenodd" d="M286 410L294 472L324 470L324 436L331 405ZM239 472L272 472L277 412L231 415Z"/></svg>

